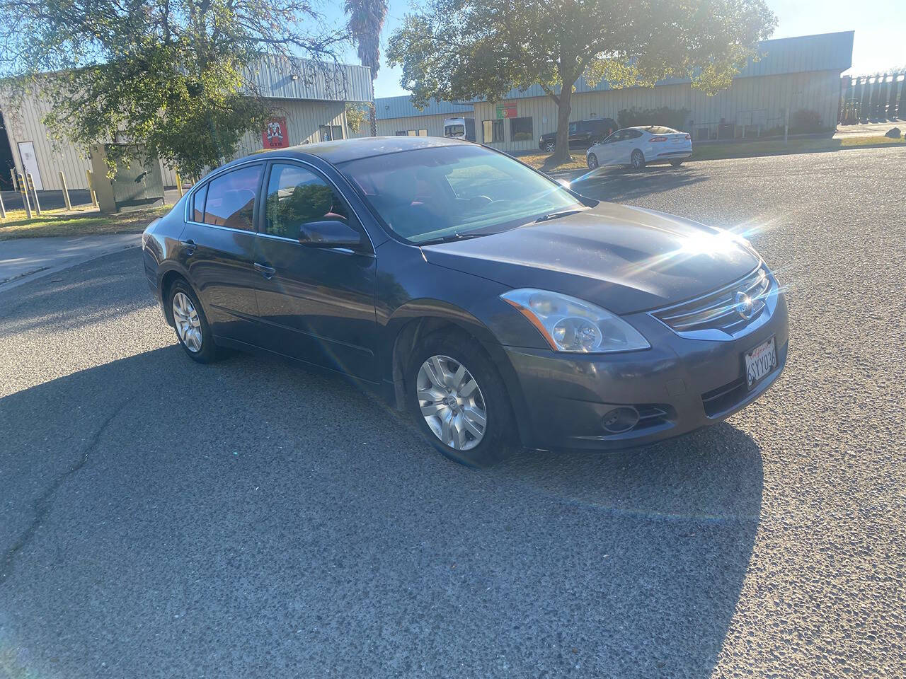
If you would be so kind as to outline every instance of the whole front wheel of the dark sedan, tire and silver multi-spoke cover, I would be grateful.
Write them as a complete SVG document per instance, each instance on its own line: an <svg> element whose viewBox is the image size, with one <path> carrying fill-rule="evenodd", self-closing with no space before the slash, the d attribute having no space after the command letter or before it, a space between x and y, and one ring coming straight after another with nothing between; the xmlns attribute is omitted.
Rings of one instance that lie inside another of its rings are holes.
<svg viewBox="0 0 906 679"><path fill-rule="evenodd" d="M475 340L429 335L412 354L406 386L419 430L441 454L487 467L512 450L506 388Z"/></svg>

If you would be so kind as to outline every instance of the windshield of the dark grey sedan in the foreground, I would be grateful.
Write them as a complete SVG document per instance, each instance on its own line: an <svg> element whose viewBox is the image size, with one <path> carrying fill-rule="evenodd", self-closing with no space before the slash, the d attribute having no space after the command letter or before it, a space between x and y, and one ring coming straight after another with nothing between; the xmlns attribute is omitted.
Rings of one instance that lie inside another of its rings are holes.
<svg viewBox="0 0 906 679"><path fill-rule="evenodd" d="M419 148L339 167L384 223L415 244L496 233L583 207L553 180L478 146Z"/></svg>

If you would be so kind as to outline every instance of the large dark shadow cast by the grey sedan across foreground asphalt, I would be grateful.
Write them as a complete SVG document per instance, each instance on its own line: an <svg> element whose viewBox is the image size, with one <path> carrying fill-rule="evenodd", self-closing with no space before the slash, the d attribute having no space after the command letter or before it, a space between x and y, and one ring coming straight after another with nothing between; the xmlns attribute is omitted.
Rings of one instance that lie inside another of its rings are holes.
<svg viewBox="0 0 906 679"><path fill-rule="evenodd" d="M342 378L175 345L0 398L0 436L23 674L707 677L761 506L733 426L476 472Z"/></svg>

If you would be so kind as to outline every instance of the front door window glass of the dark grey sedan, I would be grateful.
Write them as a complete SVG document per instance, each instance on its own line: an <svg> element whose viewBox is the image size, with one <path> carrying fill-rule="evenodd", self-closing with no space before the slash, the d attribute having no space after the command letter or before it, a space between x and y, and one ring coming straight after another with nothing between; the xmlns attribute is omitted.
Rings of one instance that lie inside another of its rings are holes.
<svg viewBox="0 0 906 679"><path fill-rule="evenodd" d="M275 164L267 180L265 234L297 240L304 225L349 221L342 198L321 177L298 165Z"/></svg>

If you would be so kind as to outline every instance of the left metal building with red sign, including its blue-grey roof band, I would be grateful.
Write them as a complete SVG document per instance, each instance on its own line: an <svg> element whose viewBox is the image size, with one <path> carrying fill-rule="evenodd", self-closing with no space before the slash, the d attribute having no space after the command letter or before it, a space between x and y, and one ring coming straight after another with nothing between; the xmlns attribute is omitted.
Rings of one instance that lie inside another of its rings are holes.
<svg viewBox="0 0 906 679"><path fill-rule="evenodd" d="M346 102L368 102L374 97L371 69L365 66L265 58L253 78L258 91L273 100L279 111L268 121L264 133L246 134L239 143L238 156L261 148L349 137ZM88 153L84 148L53 142L41 122L49 110L50 102L46 100L31 97L14 104L4 100L0 92L4 123L0 126L0 144L8 142L15 170L30 172L39 190L61 189L60 170L65 173L69 188L87 188L85 171L91 168ZM7 139L2 134L4 127ZM4 150L0 148L0 158ZM0 170L8 185L8 169ZM164 184L174 186L174 170L161 170Z"/></svg>

